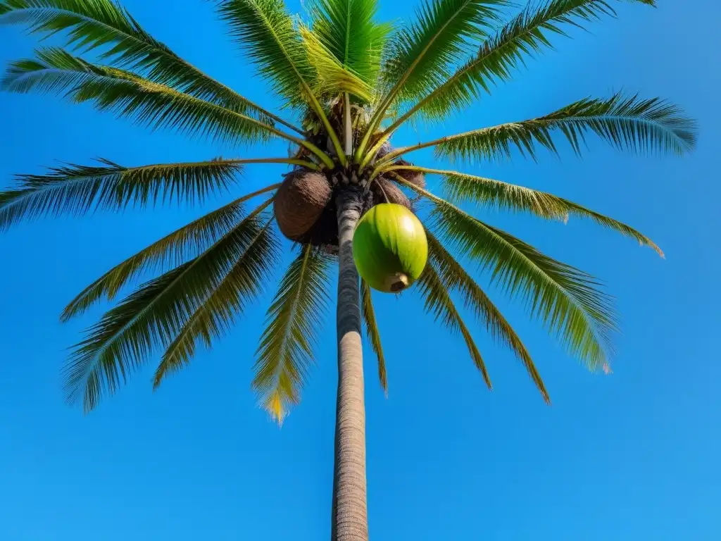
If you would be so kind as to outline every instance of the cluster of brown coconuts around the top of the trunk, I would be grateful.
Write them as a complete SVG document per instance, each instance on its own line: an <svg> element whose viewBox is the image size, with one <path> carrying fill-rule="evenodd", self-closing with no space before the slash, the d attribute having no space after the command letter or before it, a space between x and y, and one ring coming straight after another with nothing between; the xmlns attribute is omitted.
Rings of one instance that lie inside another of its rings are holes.
<svg viewBox="0 0 721 541"><path fill-rule="evenodd" d="M387 154L379 151L379 157ZM383 154L381 154L383 153ZM398 160L396 165L411 165ZM412 170L396 170L400 177L420 188L425 186L423 173ZM344 172L317 172L296 168L285 175L283 183L273 199L273 211L280 232L288 239L301 244L323 247L337 252L338 225L335 207L335 192L349 183L363 188L363 211L381 203L395 203L412 211L413 201L404 193L395 180L383 176L371 182L358 181Z"/></svg>

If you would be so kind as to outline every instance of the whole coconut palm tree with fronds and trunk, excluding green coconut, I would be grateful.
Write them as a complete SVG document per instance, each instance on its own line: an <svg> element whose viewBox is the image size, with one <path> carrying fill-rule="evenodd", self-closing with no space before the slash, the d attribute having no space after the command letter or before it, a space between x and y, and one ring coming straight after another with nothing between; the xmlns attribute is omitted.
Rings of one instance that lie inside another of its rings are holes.
<svg viewBox="0 0 721 541"><path fill-rule="evenodd" d="M157 351L162 359L155 387L187 366L196 348L210 347L228 332L270 281L281 251L279 229L299 249L268 309L252 387L278 421L298 403L314 361L327 279L338 265L332 539L366 540L361 319L384 389L386 368L371 291L359 280L352 241L358 219L383 202L415 210L417 202L428 203L430 212L420 213L428 264L414 289L432 317L460 333L489 388L485 361L454 295L516 354L549 400L523 342L459 253L489 271L491 283L524 302L529 315L590 369L608 366L616 324L596 280L468 214L461 203L542 219L580 216L661 254L659 248L632 227L564 198L407 158L425 148L455 162L533 158L539 150L555 153L557 138L580 152L587 135L619 149L681 155L694 146L694 123L658 98L617 93L410 146L394 147L391 138L409 121L442 123L466 110L567 29L613 17L619 2L545 0L519 12L506 0L422 0L414 21L393 27L376 21L376 0L315 0L304 17L292 17L282 0L216 0L230 37L283 100L283 116L191 66L113 0L0 0L0 23L66 38L66 48L40 48L34 58L12 62L1 82L7 91L60 94L143 126L244 148L271 138L291 145L289 155L280 157L67 164L19 175L14 188L0 193L0 229L6 229L40 216L202 203L210 193L235 188L247 164L289 167L278 182L240 195L111 268L68 304L63 321L156 273L75 346L63 371L68 400L92 410ZM653 6L655 0L627 3ZM94 56L82 58L79 50ZM426 189L427 175L440 177L445 197ZM262 203L246 213L252 198Z"/></svg>

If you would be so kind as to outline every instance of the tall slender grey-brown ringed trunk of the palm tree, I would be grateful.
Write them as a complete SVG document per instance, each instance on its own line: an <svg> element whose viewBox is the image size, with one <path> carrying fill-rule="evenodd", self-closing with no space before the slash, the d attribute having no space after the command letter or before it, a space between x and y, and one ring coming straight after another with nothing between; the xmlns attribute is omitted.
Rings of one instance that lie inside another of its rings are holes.
<svg viewBox="0 0 721 541"><path fill-rule="evenodd" d="M337 197L338 246L338 395L335 413L332 541L367 541L366 408L363 402L363 348L358 271L353 263L353 230L361 217L355 186Z"/></svg>

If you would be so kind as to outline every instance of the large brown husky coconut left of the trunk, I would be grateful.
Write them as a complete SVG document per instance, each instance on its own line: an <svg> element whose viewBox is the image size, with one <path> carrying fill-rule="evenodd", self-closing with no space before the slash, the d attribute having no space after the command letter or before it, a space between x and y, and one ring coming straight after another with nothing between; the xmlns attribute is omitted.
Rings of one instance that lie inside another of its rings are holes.
<svg viewBox="0 0 721 541"><path fill-rule="evenodd" d="M273 199L280 232L288 239L301 239L321 216L330 194L330 185L319 172L300 170L286 175Z"/></svg>

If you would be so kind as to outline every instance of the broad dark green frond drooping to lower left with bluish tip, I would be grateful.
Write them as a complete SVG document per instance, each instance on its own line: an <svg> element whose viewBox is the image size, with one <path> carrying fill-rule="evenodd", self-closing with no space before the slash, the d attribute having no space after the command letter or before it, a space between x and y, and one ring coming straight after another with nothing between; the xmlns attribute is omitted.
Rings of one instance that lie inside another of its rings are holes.
<svg viewBox="0 0 721 541"><path fill-rule="evenodd" d="M263 203L208 250L141 286L90 327L64 369L68 402L95 408L158 346L167 346L263 226Z"/></svg>

